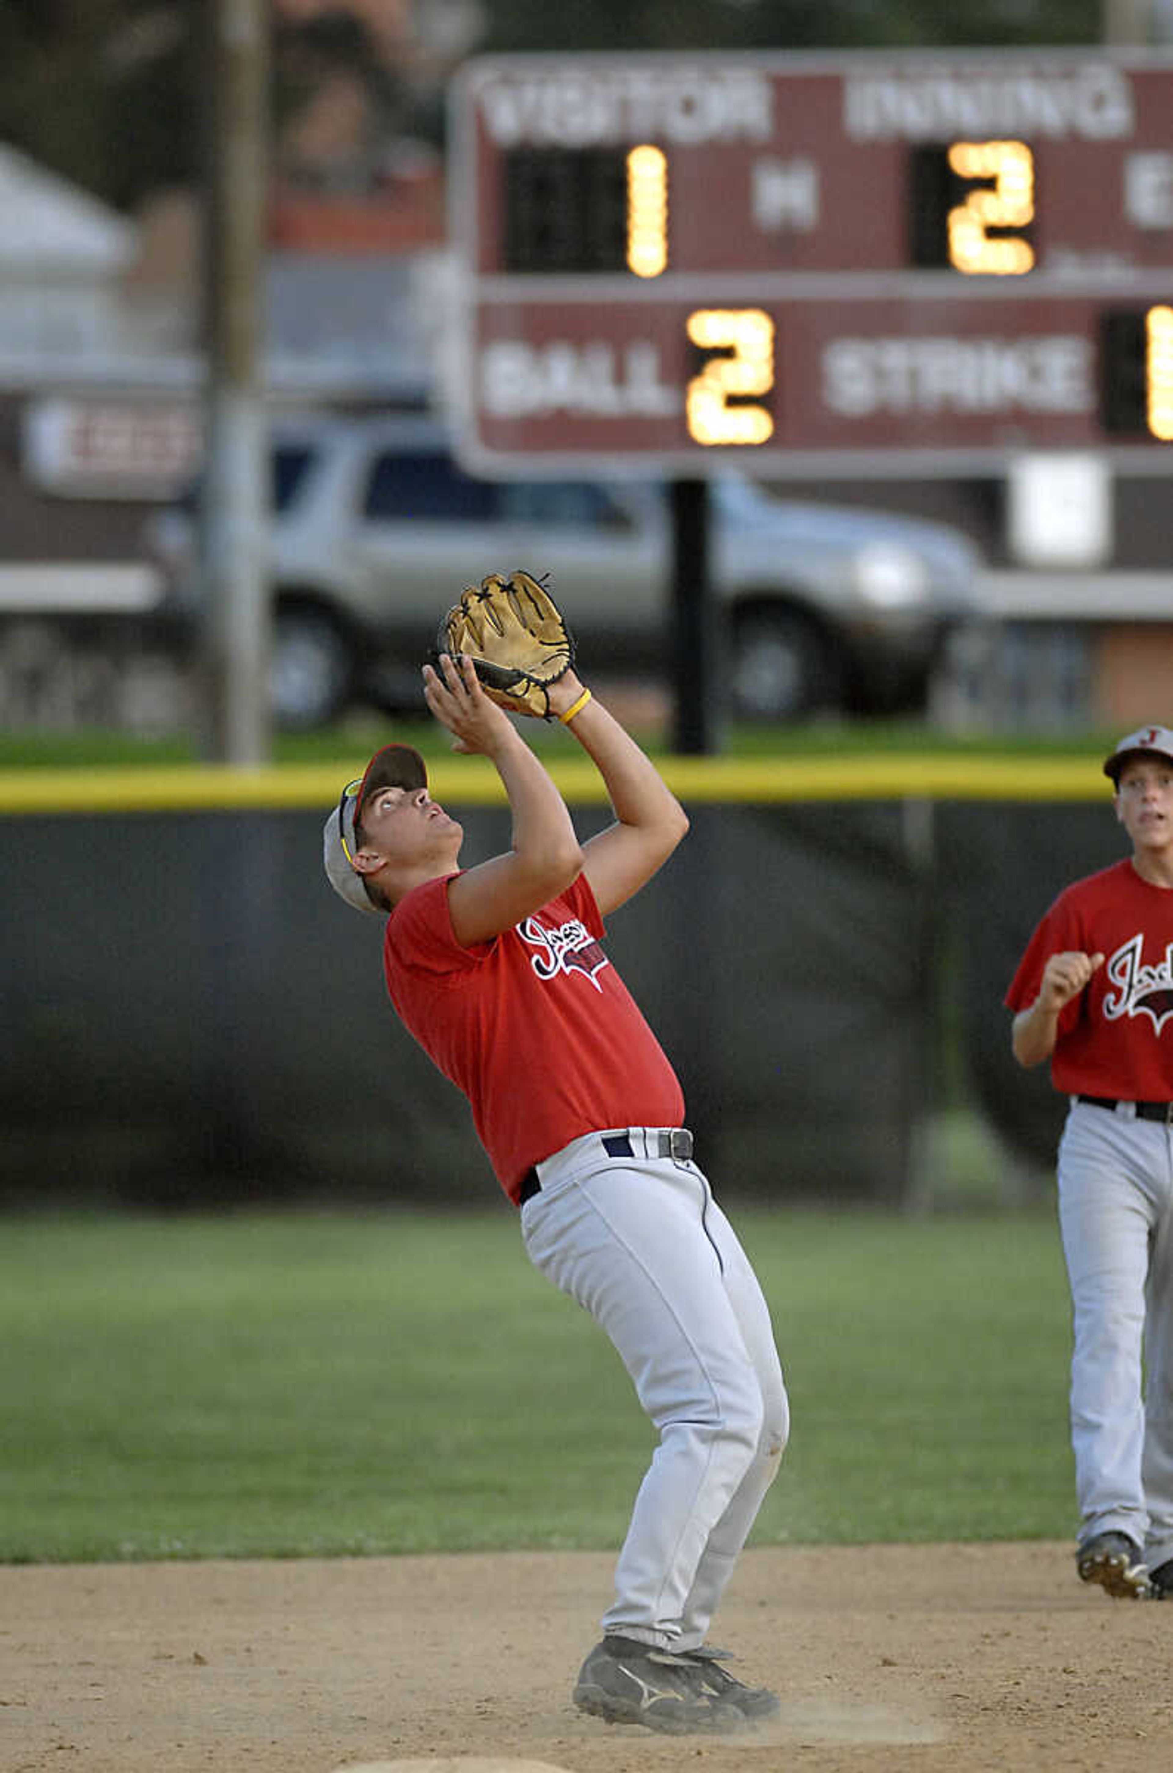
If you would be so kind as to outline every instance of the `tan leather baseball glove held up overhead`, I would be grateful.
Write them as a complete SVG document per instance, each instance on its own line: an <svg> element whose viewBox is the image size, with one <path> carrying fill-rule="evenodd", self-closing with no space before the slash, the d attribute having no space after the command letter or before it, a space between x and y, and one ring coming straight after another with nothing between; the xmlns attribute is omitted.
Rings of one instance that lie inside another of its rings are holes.
<svg viewBox="0 0 1173 1773"><path fill-rule="evenodd" d="M489 695L514 715L549 720L549 686L574 663L574 638L546 587L528 573L489 573L470 585L436 637L464 652Z"/></svg>

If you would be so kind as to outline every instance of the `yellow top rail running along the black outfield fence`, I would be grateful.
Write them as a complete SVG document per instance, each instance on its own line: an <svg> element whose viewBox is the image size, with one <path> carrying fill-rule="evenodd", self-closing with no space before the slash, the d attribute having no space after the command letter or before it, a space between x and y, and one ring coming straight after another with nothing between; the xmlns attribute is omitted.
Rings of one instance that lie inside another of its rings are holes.
<svg viewBox="0 0 1173 1773"><path fill-rule="evenodd" d="M1097 757L959 757L923 752L891 757L668 757L661 773L682 801L820 800L1107 800L1111 785ZM0 814L236 812L335 805L360 759L333 764L236 769L229 766L27 768L0 769ZM549 773L571 803L602 801L599 777L585 759L556 762ZM482 757L429 764L439 801L461 807L503 803L501 784Z"/></svg>

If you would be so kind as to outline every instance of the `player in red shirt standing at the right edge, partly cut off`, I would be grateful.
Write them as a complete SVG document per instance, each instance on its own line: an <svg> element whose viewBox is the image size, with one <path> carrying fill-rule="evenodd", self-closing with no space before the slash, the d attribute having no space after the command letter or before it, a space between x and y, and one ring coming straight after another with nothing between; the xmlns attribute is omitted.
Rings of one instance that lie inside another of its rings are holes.
<svg viewBox="0 0 1173 1773"><path fill-rule="evenodd" d="M1019 1064L1051 1058L1070 1097L1076 1566L1111 1596L1173 1599L1173 730L1130 732L1104 773L1132 855L1060 894L1006 1004Z"/></svg>

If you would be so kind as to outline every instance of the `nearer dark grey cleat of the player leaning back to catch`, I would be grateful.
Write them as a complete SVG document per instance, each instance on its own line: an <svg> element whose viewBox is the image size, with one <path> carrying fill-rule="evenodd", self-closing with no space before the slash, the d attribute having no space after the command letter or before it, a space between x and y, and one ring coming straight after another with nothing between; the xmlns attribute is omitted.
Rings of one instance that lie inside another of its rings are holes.
<svg viewBox="0 0 1173 1773"><path fill-rule="evenodd" d="M583 1663L574 1704L604 1723L641 1723L664 1736L744 1729L746 1713L718 1697L702 1663L608 1635Z"/></svg>

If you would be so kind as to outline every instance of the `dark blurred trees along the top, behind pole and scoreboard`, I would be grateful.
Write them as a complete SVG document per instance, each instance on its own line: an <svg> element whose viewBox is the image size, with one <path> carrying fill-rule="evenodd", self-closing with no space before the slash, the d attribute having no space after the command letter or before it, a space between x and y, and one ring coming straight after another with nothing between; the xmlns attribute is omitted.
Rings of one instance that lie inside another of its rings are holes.
<svg viewBox="0 0 1173 1773"><path fill-rule="evenodd" d="M346 0L317 16L273 5L273 115L335 71L376 99L388 140L445 126L447 69L379 57ZM420 7L423 11L423 7ZM4 0L4 140L117 207L198 179L211 0ZM1088 44L1099 0L493 0L475 51L998 48ZM431 73L429 73L431 67Z"/></svg>

